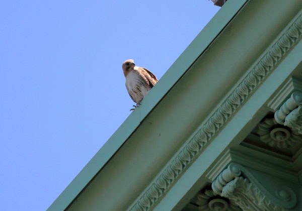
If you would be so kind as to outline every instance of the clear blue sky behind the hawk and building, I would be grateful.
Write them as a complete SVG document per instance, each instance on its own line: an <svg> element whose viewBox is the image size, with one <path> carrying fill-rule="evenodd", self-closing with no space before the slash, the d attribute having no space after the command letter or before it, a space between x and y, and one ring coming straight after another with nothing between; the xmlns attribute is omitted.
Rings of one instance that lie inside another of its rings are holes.
<svg viewBox="0 0 302 211"><path fill-rule="evenodd" d="M129 116L122 62L158 78L207 0L0 3L0 210L45 210Z"/></svg>

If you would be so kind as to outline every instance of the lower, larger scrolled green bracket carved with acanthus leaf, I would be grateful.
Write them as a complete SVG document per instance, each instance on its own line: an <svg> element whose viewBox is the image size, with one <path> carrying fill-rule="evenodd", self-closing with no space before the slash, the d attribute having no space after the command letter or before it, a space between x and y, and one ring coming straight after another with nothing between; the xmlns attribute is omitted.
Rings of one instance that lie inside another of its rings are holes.
<svg viewBox="0 0 302 211"><path fill-rule="evenodd" d="M214 194L249 211L284 211L293 208L297 202L295 193L284 185L284 181L269 175L261 176L255 171L252 173L236 163L231 163L218 175L212 189Z"/></svg>

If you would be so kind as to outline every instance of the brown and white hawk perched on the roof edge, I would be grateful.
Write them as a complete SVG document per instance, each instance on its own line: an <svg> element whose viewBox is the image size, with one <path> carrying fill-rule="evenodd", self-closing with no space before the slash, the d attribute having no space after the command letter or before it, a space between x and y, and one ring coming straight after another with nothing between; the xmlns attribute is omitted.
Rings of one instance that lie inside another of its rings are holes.
<svg viewBox="0 0 302 211"><path fill-rule="evenodd" d="M133 105L136 108L142 98L158 82L158 79L146 68L135 66L133 59L124 61L122 68L126 78L127 91L131 99L136 102L136 106Z"/></svg>

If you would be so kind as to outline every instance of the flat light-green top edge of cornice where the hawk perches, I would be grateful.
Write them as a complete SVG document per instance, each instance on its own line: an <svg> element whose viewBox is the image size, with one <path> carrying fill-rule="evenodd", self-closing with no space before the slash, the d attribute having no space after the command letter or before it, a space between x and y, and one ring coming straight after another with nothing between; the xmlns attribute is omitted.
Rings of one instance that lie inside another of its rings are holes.
<svg viewBox="0 0 302 211"><path fill-rule="evenodd" d="M47 209L64 210L119 150L194 61L219 35L248 0L229 0L168 69L158 84Z"/></svg>

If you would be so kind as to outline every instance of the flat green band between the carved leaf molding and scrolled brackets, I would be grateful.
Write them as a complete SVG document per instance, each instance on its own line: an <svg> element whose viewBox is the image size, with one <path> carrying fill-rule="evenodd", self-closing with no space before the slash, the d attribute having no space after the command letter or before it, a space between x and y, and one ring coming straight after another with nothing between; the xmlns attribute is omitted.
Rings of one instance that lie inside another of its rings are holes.
<svg viewBox="0 0 302 211"><path fill-rule="evenodd" d="M180 210L180 207L184 205L184 203L181 203L183 196L191 191L191 194L188 194L186 200L184 200L187 202L199 190L198 187L208 182L200 175L206 172L221 152L238 145L250 133L251 128L254 128L260 122L267 112L267 108L263 107L263 104L265 104L270 95L280 87L282 82L292 73L292 70L301 62L301 52L302 42L299 42L253 94L250 100L233 117L232 121L226 125L224 130L202 152L192 166L186 170L184 175L154 210ZM194 184L196 185L195 187L193 187Z"/></svg>

